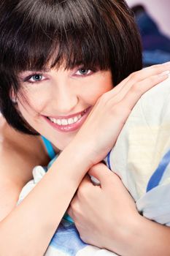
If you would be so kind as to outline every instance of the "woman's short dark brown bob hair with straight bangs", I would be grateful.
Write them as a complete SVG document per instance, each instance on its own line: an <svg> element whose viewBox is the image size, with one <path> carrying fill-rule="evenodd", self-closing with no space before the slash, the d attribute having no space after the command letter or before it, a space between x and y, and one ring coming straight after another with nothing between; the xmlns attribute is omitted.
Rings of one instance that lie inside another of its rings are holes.
<svg viewBox="0 0 170 256"><path fill-rule="evenodd" d="M142 68L134 16L123 0L1 0L0 109L7 122L36 134L23 120L10 92L18 93L18 73L84 67L111 69L117 85Z"/></svg>

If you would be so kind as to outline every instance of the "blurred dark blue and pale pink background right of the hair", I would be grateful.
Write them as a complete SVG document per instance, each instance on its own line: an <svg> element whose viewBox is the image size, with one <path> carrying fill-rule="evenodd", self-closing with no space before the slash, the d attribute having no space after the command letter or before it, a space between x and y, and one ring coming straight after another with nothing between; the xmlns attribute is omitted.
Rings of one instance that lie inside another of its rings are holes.
<svg viewBox="0 0 170 256"><path fill-rule="evenodd" d="M144 67L170 61L170 1L126 1L142 36Z"/></svg>

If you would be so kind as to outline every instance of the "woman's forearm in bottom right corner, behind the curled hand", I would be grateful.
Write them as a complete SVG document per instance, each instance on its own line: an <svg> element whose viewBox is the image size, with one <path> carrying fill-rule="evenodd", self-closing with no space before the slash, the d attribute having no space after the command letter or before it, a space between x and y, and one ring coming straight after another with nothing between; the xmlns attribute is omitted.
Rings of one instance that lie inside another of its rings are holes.
<svg viewBox="0 0 170 256"><path fill-rule="evenodd" d="M121 229L117 241L109 240L107 249L122 256L170 255L170 227L138 216Z"/></svg>

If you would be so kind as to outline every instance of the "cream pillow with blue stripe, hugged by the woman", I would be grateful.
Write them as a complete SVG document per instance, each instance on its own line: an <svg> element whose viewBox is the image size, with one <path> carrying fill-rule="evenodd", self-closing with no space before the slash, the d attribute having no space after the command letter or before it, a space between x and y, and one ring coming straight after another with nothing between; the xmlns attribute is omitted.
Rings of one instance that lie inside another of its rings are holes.
<svg viewBox="0 0 170 256"><path fill-rule="evenodd" d="M170 78L139 99L106 162L145 217L170 225Z"/></svg>

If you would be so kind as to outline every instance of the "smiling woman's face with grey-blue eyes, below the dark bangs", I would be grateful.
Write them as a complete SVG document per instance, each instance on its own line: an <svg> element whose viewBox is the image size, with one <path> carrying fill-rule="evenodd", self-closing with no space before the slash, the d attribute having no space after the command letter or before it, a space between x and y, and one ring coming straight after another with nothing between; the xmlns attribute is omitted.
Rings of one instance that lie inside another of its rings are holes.
<svg viewBox="0 0 170 256"><path fill-rule="evenodd" d="M18 109L28 124L59 150L74 138L102 94L112 89L110 71L50 69L19 75Z"/></svg>

